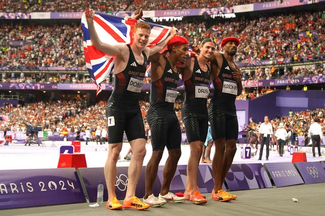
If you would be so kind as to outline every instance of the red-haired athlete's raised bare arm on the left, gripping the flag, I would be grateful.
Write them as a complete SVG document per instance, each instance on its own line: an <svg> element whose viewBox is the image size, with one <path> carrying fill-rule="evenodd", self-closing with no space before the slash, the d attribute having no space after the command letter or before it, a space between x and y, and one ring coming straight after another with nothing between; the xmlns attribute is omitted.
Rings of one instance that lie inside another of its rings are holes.
<svg viewBox="0 0 325 216"><path fill-rule="evenodd" d="M94 24L93 24L93 18L95 16L94 11L92 9L88 9L85 12L85 15L86 15L86 20L87 20L87 24L88 24L88 31L89 31L90 40L92 42L92 45L96 49L98 49L98 50L100 50L103 53L106 53L108 55L117 55L117 56L122 55L122 51L123 51L123 48L125 46L123 46L123 45L105 44L98 37L98 34L96 33L95 27L94 27Z"/></svg>

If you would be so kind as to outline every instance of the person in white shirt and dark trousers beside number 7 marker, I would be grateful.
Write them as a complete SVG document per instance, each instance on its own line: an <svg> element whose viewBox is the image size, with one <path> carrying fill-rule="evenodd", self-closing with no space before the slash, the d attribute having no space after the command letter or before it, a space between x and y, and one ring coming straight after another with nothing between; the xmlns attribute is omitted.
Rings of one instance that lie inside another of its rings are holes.
<svg viewBox="0 0 325 216"><path fill-rule="evenodd" d="M262 136L262 139L261 139ZM259 127L259 131L258 131L258 138L257 141L259 142L261 140L261 147L259 149L259 158L258 160L262 160L262 155L263 155L263 148L264 145L266 144L266 160L269 160L269 151L270 151L270 137L273 137L274 140L276 140L274 138L273 135L273 127L272 124L269 122L269 116L265 116L264 117L264 123L261 124L261 126Z"/></svg>

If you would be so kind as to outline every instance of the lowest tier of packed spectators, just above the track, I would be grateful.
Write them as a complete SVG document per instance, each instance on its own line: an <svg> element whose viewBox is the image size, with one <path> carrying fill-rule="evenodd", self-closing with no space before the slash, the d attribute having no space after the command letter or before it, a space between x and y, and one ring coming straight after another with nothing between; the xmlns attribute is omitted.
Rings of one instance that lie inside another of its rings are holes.
<svg viewBox="0 0 325 216"><path fill-rule="evenodd" d="M184 124L181 119L182 99L178 99L175 104L175 112L180 121L181 131L185 133ZM62 101L47 101L18 105L14 107L12 104L6 104L0 107L0 113L7 113L10 121L3 121L0 124L0 131L13 131L26 133L26 125L38 125L43 128L44 136L53 136L58 134L61 139L68 137L68 133L76 134L77 131L84 133L87 127L94 132L98 126L106 127L107 120L105 117L106 101L99 101L93 105L81 103L80 99L69 99ZM146 119L146 114L149 108L148 101L140 101L140 108L144 120L146 134L149 131L149 125ZM284 123L286 129L296 133L298 136L304 136L308 133L308 128L313 122L314 117L319 118L322 125L322 132L325 134L325 109L319 108L315 110L303 110L286 116L280 116L275 119L270 119L270 122L276 131L280 122ZM248 125L248 128L255 124L256 128L262 122L253 122ZM94 139L94 138L93 138ZM83 140L82 140L83 141Z"/></svg>

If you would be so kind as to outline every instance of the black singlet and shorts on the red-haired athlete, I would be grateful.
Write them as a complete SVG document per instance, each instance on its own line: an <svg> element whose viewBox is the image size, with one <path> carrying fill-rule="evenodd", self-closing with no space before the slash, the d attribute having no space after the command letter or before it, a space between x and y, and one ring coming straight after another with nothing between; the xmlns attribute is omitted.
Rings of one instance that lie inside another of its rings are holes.
<svg viewBox="0 0 325 216"><path fill-rule="evenodd" d="M146 139L142 114L139 105L139 95L145 77L147 56L144 63L138 64L131 47L126 68L115 74L114 90L106 106L108 119L108 143L122 142L123 133L128 141Z"/></svg>

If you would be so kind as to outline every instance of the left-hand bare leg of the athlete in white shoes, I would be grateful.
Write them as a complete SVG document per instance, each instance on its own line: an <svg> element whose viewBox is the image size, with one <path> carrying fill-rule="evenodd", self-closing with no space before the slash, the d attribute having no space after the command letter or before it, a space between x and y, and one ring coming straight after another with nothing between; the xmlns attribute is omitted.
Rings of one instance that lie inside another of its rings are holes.
<svg viewBox="0 0 325 216"><path fill-rule="evenodd" d="M157 178L158 165L163 157L164 150L153 150L151 158L146 166L146 190L144 198L147 199L153 193L153 183ZM167 165L167 164L166 164ZM165 166L166 166L165 165Z"/></svg>

